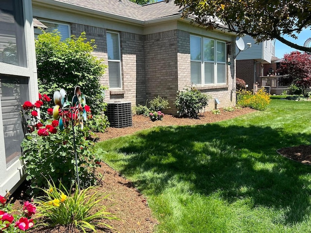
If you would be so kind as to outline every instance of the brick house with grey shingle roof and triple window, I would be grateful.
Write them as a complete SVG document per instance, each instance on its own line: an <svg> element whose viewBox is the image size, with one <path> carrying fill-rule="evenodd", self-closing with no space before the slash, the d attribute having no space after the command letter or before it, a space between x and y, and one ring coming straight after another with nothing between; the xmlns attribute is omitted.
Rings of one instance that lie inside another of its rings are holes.
<svg viewBox="0 0 311 233"><path fill-rule="evenodd" d="M176 92L193 84L217 98L217 107L234 106L236 35L190 25L181 12L173 1L33 0L34 17L48 31L95 39L94 54L108 65L101 81L107 102L145 104L160 95L176 114Z"/></svg>

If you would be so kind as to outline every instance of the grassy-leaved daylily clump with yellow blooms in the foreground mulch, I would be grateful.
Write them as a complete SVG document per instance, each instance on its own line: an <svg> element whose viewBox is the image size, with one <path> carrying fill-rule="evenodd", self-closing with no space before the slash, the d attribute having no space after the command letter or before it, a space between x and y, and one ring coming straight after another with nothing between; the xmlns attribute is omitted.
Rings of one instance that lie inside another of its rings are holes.
<svg viewBox="0 0 311 233"><path fill-rule="evenodd" d="M53 182L48 182L48 184L48 189L41 189L45 196L34 201L38 209L36 217L43 217L44 225L59 224L69 228L75 226L84 233L86 230L96 233L95 224L112 228L99 220L119 220L116 216L106 212L106 207L100 202L107 199L108 195L100 194L96 191L96 186L90 186L82 191L76 187L74 193L71 194L61 183L59 188Z"/></svg>

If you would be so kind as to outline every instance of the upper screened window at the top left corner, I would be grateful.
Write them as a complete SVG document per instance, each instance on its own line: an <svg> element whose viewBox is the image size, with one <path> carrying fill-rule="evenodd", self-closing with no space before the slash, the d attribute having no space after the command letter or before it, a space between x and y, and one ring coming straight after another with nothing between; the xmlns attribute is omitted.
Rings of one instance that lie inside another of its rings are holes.
<svg viewBox="0 0 311 233"><path fill-rule="evenodd" d="M22 1L1 0L0 62L26 67Z"/></svg>

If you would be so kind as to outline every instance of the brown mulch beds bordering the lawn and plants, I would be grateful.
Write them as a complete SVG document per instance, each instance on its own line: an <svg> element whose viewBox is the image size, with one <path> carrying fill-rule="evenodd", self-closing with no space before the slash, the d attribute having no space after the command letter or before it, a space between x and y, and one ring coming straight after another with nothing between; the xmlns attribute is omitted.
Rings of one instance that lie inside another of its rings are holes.
<svg viewBox="0 0 311 233"><path fill-rule="evenodd" d="M236 109L234 112L225 112L221 110L220 115L215 115L211 112L205 112L200 119L179 118L171 115L165 115L163 120L151 121L149 117L133 116L133 126L126 128L108 128L105 133L98 133L99 140L107 140L127 134L135 133L142 129L151 128L154 126L171 126L171 125L197 125L207 124L211 122L231 119L247 113L254 112L250 108ZM298 150L299 149L299 150ZM300 146L298 148L285 148L278 151L286 157L294 160L299 160L305 164L311 164L311 147ZM305 156L307 155L307 156ZM299 158L299 159L298 159ZM100 182L99 191L103 194L110 194L110 200L104 201L107 206L107 211L115 214L121 220L105 221L115 228L109 230L106 228L97 229L98 233L152 233L159 222L152 216L151 210L148 207L148 200L141 195L135 188L133 183L124 179L118 172L101 163L101 167L97 172L104 175L104 179ZM16 206L21 206L25 197L24 191L27 188L21 185L14 193ZM62 226L53 228L36 227L30 231L31 233L79 233L77 229L66 229Z"/></svg>

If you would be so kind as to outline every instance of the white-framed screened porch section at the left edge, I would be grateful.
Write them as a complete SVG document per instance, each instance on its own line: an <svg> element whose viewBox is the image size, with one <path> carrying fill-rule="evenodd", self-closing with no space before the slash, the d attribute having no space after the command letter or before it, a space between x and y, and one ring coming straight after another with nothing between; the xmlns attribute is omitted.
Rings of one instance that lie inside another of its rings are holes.
<svg viewBox="0 0 311 233"><path fill-rule="evenodd" d="M20 110L38 98L31 0L0 0L0 195L14 191L23 165Z"/></svg>

